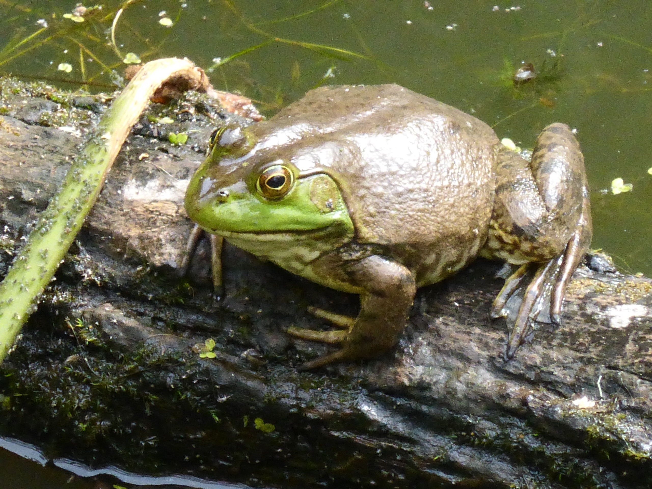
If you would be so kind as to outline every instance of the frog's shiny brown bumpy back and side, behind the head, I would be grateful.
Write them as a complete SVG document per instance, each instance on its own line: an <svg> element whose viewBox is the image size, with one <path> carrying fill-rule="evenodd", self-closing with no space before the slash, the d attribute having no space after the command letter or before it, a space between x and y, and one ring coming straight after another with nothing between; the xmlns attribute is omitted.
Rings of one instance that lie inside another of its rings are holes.
<svg viewBox="0 0 652 489"><path fill-rule="evenodd" d="M399 85L359 85L310 91L267 124L278 157L337 175L357 241L384 246L419 285L484 244L499 141L479 119Z"/></svg>

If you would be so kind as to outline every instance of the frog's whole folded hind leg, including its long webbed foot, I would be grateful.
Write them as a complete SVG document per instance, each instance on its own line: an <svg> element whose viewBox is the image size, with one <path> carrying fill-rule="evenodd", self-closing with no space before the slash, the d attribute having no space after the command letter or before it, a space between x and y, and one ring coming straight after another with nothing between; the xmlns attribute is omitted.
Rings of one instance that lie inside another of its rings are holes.
<svg viewBox="0 0 652 489"><path fill-rule="evenodd" d="M492 310L514 318L505 352L511 358L533 319L560 322L566 286L591 243L591 210L584 157L568 126L547 126L529 163L509 149L497 151L496 205L481 254L522 265Z"/></svg>

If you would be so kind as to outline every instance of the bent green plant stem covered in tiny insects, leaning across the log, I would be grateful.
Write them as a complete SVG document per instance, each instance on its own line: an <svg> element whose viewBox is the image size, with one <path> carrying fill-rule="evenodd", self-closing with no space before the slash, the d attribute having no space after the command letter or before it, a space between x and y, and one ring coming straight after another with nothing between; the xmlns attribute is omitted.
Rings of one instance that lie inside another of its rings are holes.
<svg viewBox="0 0 652 489"><path fill-rule="evenodd" d="M0 284L0 361L82 228L129 130L156 89L173 76L183 76L196 87L205 82L200 68L188 60L168 58L147 63L115 99L85 149L72 162L59 194L40 215Z"/></svg>

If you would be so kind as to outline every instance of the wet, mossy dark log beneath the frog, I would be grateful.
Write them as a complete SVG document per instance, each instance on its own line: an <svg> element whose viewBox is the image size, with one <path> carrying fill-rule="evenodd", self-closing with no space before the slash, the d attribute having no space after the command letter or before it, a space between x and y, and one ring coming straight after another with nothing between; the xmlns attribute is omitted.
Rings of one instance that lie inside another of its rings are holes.
<svg viewBox="0 0 652 489"><path fill-rule="evenodd" d="M0 90L3 276L110 97ZM562 327L505 363L505 325L488 318L499 264L479 260L419 289L387 355L297 372L327 347L287 327L327 327L308 306L354 315L356 296L228 244L220 301L207 243L179 277L185 185L226 119L191 94L134 128L0 366L1 435L91 467L251 486L651 486L652 280L582 265Z"/></svg>

